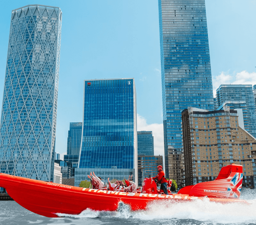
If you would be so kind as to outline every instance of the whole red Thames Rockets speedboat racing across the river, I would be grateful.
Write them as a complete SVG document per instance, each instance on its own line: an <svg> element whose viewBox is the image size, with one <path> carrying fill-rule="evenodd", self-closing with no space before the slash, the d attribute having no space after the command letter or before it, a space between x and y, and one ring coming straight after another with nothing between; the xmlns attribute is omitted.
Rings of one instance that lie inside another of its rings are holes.
<svg viewBox="0 0 256 225"><path fill-rule="evenodd" d="M4 187L14 201L24 208L46 217L57 217L57 213L79 214L87 208L115 211L119 202L130 205L133 211L146 209L154 201L191 201L206 196L215 202L246 203L238 199L242 172L241 165L231 164L221 168L214 181L186 186L177 194L169 195L159 193L152 178L144 179L141 193L73 187L4 173L0 173L0 187Z"/></svg>

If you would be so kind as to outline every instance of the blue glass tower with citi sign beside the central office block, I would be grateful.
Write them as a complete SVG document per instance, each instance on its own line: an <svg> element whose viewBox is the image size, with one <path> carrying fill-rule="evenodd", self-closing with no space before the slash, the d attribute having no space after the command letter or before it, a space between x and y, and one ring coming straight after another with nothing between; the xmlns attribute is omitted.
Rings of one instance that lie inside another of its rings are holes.
<svg viewBox="0 0 256 225"><path fill-rule="evenodd" d="M82 138L83 123L70 123L67 136L67 155L64 155L64 161L72 163L72 176L75 176L75 168L78 166Z"/></svg>

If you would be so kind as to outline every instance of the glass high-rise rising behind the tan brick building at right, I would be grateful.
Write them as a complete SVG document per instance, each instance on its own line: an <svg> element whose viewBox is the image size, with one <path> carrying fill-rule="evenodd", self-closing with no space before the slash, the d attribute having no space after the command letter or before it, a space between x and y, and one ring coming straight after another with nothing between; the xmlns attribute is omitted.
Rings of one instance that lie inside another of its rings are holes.
<svg viewBox="0 0 256 225"><path fill-rule="evenodd" d="M221 85L216 90L217 106L243 109L244 129L256 138L256 114L252 85Z"/></svg>

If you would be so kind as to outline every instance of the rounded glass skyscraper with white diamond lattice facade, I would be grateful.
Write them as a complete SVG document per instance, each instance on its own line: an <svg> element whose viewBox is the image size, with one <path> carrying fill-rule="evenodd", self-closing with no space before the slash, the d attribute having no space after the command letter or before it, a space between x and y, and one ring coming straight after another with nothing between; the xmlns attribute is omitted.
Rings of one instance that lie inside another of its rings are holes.
<svg viewBox="0 0 256 225"><path fill-rule="evenodd" d="M62 12L12 11L0 126L0 172L53 181Z"/></svg>

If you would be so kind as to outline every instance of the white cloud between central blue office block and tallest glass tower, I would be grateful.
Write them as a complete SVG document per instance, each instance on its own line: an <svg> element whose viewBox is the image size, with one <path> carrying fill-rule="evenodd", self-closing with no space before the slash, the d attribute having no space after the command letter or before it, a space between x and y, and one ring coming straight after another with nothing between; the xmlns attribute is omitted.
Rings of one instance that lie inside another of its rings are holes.
<svg viewBox="0 0 256 225"><path fill-rule="evenodd" d="M152 131L154 137L154 153L164 157L163 123L147 124L147 120L137 114L137 131Z"/></svg>

